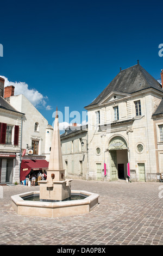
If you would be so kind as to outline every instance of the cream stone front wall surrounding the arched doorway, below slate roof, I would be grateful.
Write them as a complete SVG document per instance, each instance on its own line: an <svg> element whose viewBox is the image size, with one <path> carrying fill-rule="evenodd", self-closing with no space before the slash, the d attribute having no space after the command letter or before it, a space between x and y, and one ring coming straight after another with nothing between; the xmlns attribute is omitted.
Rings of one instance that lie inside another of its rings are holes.
<svg viewBox="0 0 163 256"><path fill-rule="evenodd" d="M135 112L134 101L137 100L141 101L140 117L136 117ZM157 170L152 114L159 105L159 102L160 97L158 95L135 93L135 95L127 96L124 99L115 101L115 103L108 102L108 104L105 103L105 106L99 105L96 108L88 109L89 160L91 160L91 164L89 164L89 177L91 179L97 179L96 163L101 163L103 169L104 154L106 168L108 167L105 180L110 179L109 153L104 153L104 151L108 148L111 137L122 136L122 138L126 139L129 148L130 154L128 153L128 159L130 156L131 178L139 180L138 163L145 163L146 181L155 180ZM114 106L118 106L119 109L118 121L127 121L134 118L133 124L124 122L120 125L111 125L111 129L108 126L106 131L99 130L96 125L96 111L101 112L101 125L106 124L106 122L114 123ZM143 145L141 153L137 150L138 144ZM101 148L100 155L95 153L97 147Z"/></svg>

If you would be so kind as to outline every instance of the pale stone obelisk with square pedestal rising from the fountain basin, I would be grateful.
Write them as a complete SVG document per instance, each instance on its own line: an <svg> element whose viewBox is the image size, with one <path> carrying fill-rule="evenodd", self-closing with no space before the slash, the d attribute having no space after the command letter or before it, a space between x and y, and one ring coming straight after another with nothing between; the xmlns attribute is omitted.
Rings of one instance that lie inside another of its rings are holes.
<svg viewBox="0 0 163 256"><path fill-rule="evenodd" d="M40 200L55 202L71 197L71 181L72 179L65 180L57 109L54 121L49 167L47 170L47 180L39 181Z"/></svg>

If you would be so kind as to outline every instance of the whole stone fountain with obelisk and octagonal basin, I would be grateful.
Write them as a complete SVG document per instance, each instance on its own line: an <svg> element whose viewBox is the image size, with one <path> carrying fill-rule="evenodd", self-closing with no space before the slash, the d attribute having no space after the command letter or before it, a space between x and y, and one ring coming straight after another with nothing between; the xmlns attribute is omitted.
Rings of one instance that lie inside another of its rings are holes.
<svg viewBox="0 0 163 256"><path fill-rule="evenodd" d="M98 205L99 195L81 190L72 191L71 181L72 179L65 179L57 109L47 180L39 181L40 191L12 196L12 208L17 214L42 217L71 216L90 212ZM71 200L73 194L83 196L84 199ZM35 195L39 195L39 201L28 200Z"/></svg>

